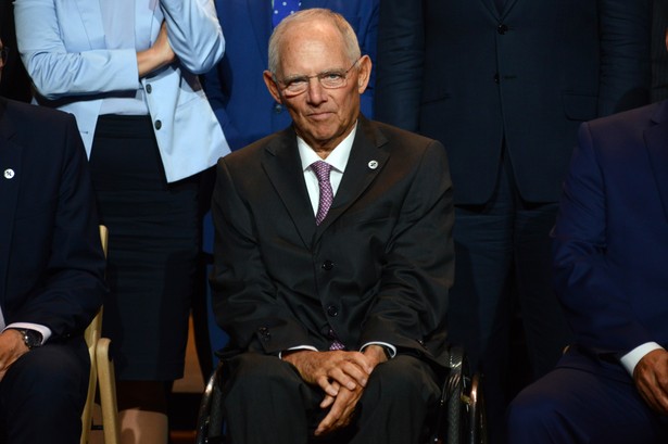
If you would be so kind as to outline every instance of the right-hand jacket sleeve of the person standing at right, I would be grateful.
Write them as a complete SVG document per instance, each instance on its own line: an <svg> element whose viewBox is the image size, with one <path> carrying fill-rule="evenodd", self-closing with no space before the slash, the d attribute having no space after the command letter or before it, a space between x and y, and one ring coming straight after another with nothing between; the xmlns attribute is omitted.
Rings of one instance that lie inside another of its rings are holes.
<svg viewBox="0 0 668 444"><path fill-rule="evenodd" d="M600 2L600 116L650 102L651 3L650 0Z"/></svg>

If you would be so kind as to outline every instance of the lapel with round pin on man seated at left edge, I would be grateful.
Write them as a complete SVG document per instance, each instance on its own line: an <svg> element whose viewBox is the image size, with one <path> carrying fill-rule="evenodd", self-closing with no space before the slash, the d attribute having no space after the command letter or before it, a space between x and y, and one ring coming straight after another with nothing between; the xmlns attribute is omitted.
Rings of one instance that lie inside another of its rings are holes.
<svg viewBox="0 0 668 444"><path fill-rule="evenodd" d="M4 299L10 248L18 199L22 148L12 141L15 125L7 114L7 102L0 100L0 296ZM4 306L4 301L0 301ZM7 320L7 319L5 319Z"/></svg>

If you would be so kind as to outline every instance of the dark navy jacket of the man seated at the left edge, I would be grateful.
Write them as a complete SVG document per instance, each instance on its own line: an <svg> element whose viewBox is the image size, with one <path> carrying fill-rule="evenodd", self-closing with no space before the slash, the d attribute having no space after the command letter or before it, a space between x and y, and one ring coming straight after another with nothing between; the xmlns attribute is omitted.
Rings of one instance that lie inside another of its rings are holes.
<svg viewBox="0 0 668 444"><path fill-rule="evenodd" d="M102 303L105 262L74 117L0 99L0 172L4 320L78 335Z"/></svg>

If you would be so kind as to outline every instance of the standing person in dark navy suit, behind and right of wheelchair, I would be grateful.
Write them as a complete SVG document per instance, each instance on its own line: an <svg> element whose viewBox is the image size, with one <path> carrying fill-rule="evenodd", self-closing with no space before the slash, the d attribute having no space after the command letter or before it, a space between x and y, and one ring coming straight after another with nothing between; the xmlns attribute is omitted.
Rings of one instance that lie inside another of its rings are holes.
<svg viewBox="0 0 668 444"><path fill-rule="evenodd" d="M492 443L517 385L552 369L571 340L549 233L578 125L648 103L650 14L648 0L380 4L376 117L448 151L448 326L484 375Z"/></svg>

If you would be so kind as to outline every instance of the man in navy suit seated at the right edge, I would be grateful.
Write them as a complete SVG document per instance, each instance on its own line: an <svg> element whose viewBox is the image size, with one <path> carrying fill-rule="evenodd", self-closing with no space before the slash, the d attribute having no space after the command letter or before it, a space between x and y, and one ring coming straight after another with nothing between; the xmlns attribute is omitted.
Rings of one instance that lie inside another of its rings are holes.
<svg viewBox="0 0 668 444"><path fill-rule="evenodd" d="M512 403L509 442L668 442L668 102L582 125L553 237L577 341Z"/></svg>

